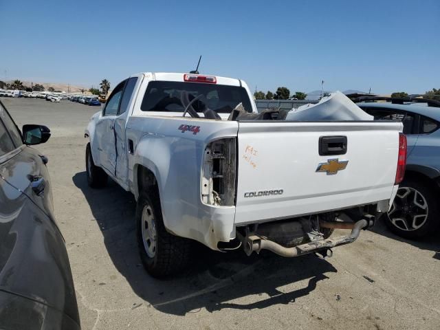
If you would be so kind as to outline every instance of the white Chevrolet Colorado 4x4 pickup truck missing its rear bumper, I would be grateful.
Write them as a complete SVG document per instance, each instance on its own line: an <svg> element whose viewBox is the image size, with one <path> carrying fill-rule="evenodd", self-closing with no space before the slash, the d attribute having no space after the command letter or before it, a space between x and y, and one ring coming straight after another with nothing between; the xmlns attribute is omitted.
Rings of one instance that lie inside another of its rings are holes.
<svg viewBox="0 0 440 330"><path fill-rule="evenodd" d="M405 168L402 124L285 118L257 113L239 79L135 74L85 130L87 179L133 192L140 256L156 277L184 267L194 241L327 256L390 207ZM351 234L329 238L335 228Z"/></svg>

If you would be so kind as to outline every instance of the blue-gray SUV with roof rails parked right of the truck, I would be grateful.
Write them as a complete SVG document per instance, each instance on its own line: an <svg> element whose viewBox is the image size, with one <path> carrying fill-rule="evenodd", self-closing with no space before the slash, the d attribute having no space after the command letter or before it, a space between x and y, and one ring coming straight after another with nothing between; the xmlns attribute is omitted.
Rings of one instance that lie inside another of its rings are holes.
<svg viewBox="0 0 440 330"><path fill-rule="evenodd" d="M375 120L402 122L408 139L404 181L384 216L388 228L407 239L439 234L440 102L381 97L360 100L363 102L358 106Z"/></svg>

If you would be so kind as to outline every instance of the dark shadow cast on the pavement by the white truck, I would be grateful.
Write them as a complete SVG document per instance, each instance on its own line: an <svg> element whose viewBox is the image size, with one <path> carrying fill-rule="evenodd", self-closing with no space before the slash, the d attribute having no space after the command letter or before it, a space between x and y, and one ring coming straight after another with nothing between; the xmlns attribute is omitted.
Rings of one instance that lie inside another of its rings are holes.
<svg viewBox="0 0 440 330"><path fill-rule="evenodd" d="M111 180L107 188L91 189L85 172L72 179L89 203L115 267L133 291L159 311L185 315L202 307L215 311L288 304L314 291L316 283L327 278L325 273L337 272L316 256L286 259L267 252L248 257L241 250L221 253L198 244L189 270L165 281L156 280L148 276L137 253L133 195ZM285 292L284 285L298 281L305 281L302 289ZM233 301L251 295L252 303Z"/></svg>

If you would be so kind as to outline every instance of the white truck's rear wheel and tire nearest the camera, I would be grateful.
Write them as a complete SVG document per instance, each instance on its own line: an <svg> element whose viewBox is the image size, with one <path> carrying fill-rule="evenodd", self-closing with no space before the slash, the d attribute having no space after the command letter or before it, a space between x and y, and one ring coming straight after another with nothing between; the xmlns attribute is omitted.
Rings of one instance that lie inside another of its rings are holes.
<svg viewBox="0 0 440 330"><path fill-rule="evenodd" d="M139 196L135 221L140 259L148 274L164 278L188 265L192 242L166 231L157 189Z"/></svg>

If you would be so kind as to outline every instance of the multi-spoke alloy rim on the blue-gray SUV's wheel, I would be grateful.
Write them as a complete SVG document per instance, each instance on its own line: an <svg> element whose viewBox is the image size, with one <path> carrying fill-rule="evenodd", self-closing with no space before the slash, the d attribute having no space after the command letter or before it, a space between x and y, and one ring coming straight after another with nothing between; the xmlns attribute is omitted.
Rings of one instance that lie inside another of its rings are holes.
<svg viewBox="0 0 440 330"><path fill-rule="evenodd" d="M399 187L388 217L401 230L417 230L428 220L428 202L419 190Z"/></svg>

